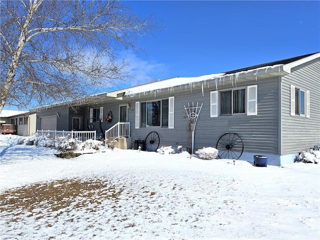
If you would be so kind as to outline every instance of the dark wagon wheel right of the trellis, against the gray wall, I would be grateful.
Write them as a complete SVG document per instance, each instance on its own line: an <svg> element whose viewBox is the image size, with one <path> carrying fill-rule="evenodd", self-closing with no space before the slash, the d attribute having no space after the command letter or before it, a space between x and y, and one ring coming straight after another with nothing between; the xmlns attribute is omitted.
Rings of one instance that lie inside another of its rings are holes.
<svg viewBox="0 0 320 240"><path fill-rule="evenodd" d="M243 141L236 133L225 133L220 136L215 148L220 158L238 159L243 152Z"/></svg>

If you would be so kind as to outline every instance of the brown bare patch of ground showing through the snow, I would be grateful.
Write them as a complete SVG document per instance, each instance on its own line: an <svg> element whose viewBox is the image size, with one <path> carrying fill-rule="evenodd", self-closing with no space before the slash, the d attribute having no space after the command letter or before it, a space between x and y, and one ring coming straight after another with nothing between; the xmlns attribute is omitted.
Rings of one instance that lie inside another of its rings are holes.
<svg viewBox="0 0 320 240"><path fill-rule="evenodd" d="M115 189L114 185L103 179L62 179L37 183L1 193L0 213L5 216L14 212L17 217L25 211L33 215L41 209L51 212L62 208L72 210L89 204L98 205L106 199L116 201L122 190Z"/></svg>

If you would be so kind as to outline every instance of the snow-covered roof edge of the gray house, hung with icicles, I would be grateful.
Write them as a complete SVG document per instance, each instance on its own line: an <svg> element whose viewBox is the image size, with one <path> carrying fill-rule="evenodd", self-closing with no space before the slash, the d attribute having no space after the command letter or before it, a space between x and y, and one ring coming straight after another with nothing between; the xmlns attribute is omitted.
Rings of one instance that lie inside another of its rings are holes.
<svg viewBox="0 0 320 240"><path fill-rule="evenodd" d="M301 56L295 56L291 58L286 58L282 60L262 63L258 65L253 65L245 68L239 68L236 70L226 71L222 73L208 74L195 77L172 77L164 80L159 80L155 82L145 83L138 86L123 88L111 92L102 92L99 94L83 97L76 100L61 102L57 104L51 104L46 106L54 107L60 105L68 104L83 104L94 102L97 99L122 99L123 96L133 97L149 94L157 94L164 91L174 91L176 89L187 89L192 91L194 87L211 86L212 83L217 89L219 83L229 82L236 86L239 79L246 80L257 80L259 78L274 77L278 75L285 75L291 72L291 69L297 65L303 64L307 61L320 57L320 52L309 53ZM35 108L42 109L43 107ZM33 109L34 110L34 109Z"/></svg>

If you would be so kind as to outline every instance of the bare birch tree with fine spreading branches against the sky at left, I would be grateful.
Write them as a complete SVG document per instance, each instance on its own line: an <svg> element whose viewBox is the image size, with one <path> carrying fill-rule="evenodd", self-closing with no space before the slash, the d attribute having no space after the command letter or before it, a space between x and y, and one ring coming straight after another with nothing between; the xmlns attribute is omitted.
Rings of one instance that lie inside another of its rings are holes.
<svg viewBox="0 0 320 240"><path fill-rule="evenodd" d="M118 51L157 28L120 1L0 2L0 111L93 94L128 79ZM31 94L31 95L30 95Z"/></svg>

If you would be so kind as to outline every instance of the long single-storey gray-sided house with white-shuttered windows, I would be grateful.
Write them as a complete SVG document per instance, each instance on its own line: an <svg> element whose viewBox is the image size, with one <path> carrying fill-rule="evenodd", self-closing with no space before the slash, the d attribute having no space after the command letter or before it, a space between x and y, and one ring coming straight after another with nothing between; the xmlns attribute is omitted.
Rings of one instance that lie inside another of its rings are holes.
<svg viewBox="0 0 320 240"><path fill-rule="evenodd" d="M319 80L317 52L225 73L175 77L101 93L95 95L97 100L82 100L76 111L70 107L72 102L37 108L37 128L41 129L40 119L48 116L55 116L57 130L73 129L72 119L79 117L79 129L91 128L97 134L100 123L103 133L118 121L128 121L132 144L156 131L159 147L176 149L182 145L185 150L191 147L191 139L184 106L193 102L202 104L195 149L215 147L221 135L236 133L243 141L239 159L253 162L254 155L266 155L268 164L281 165L294 162L299 152L320 142ZM111 122L105 120L109 112ZM151 114L149 118L147 114Z"/></svg>

